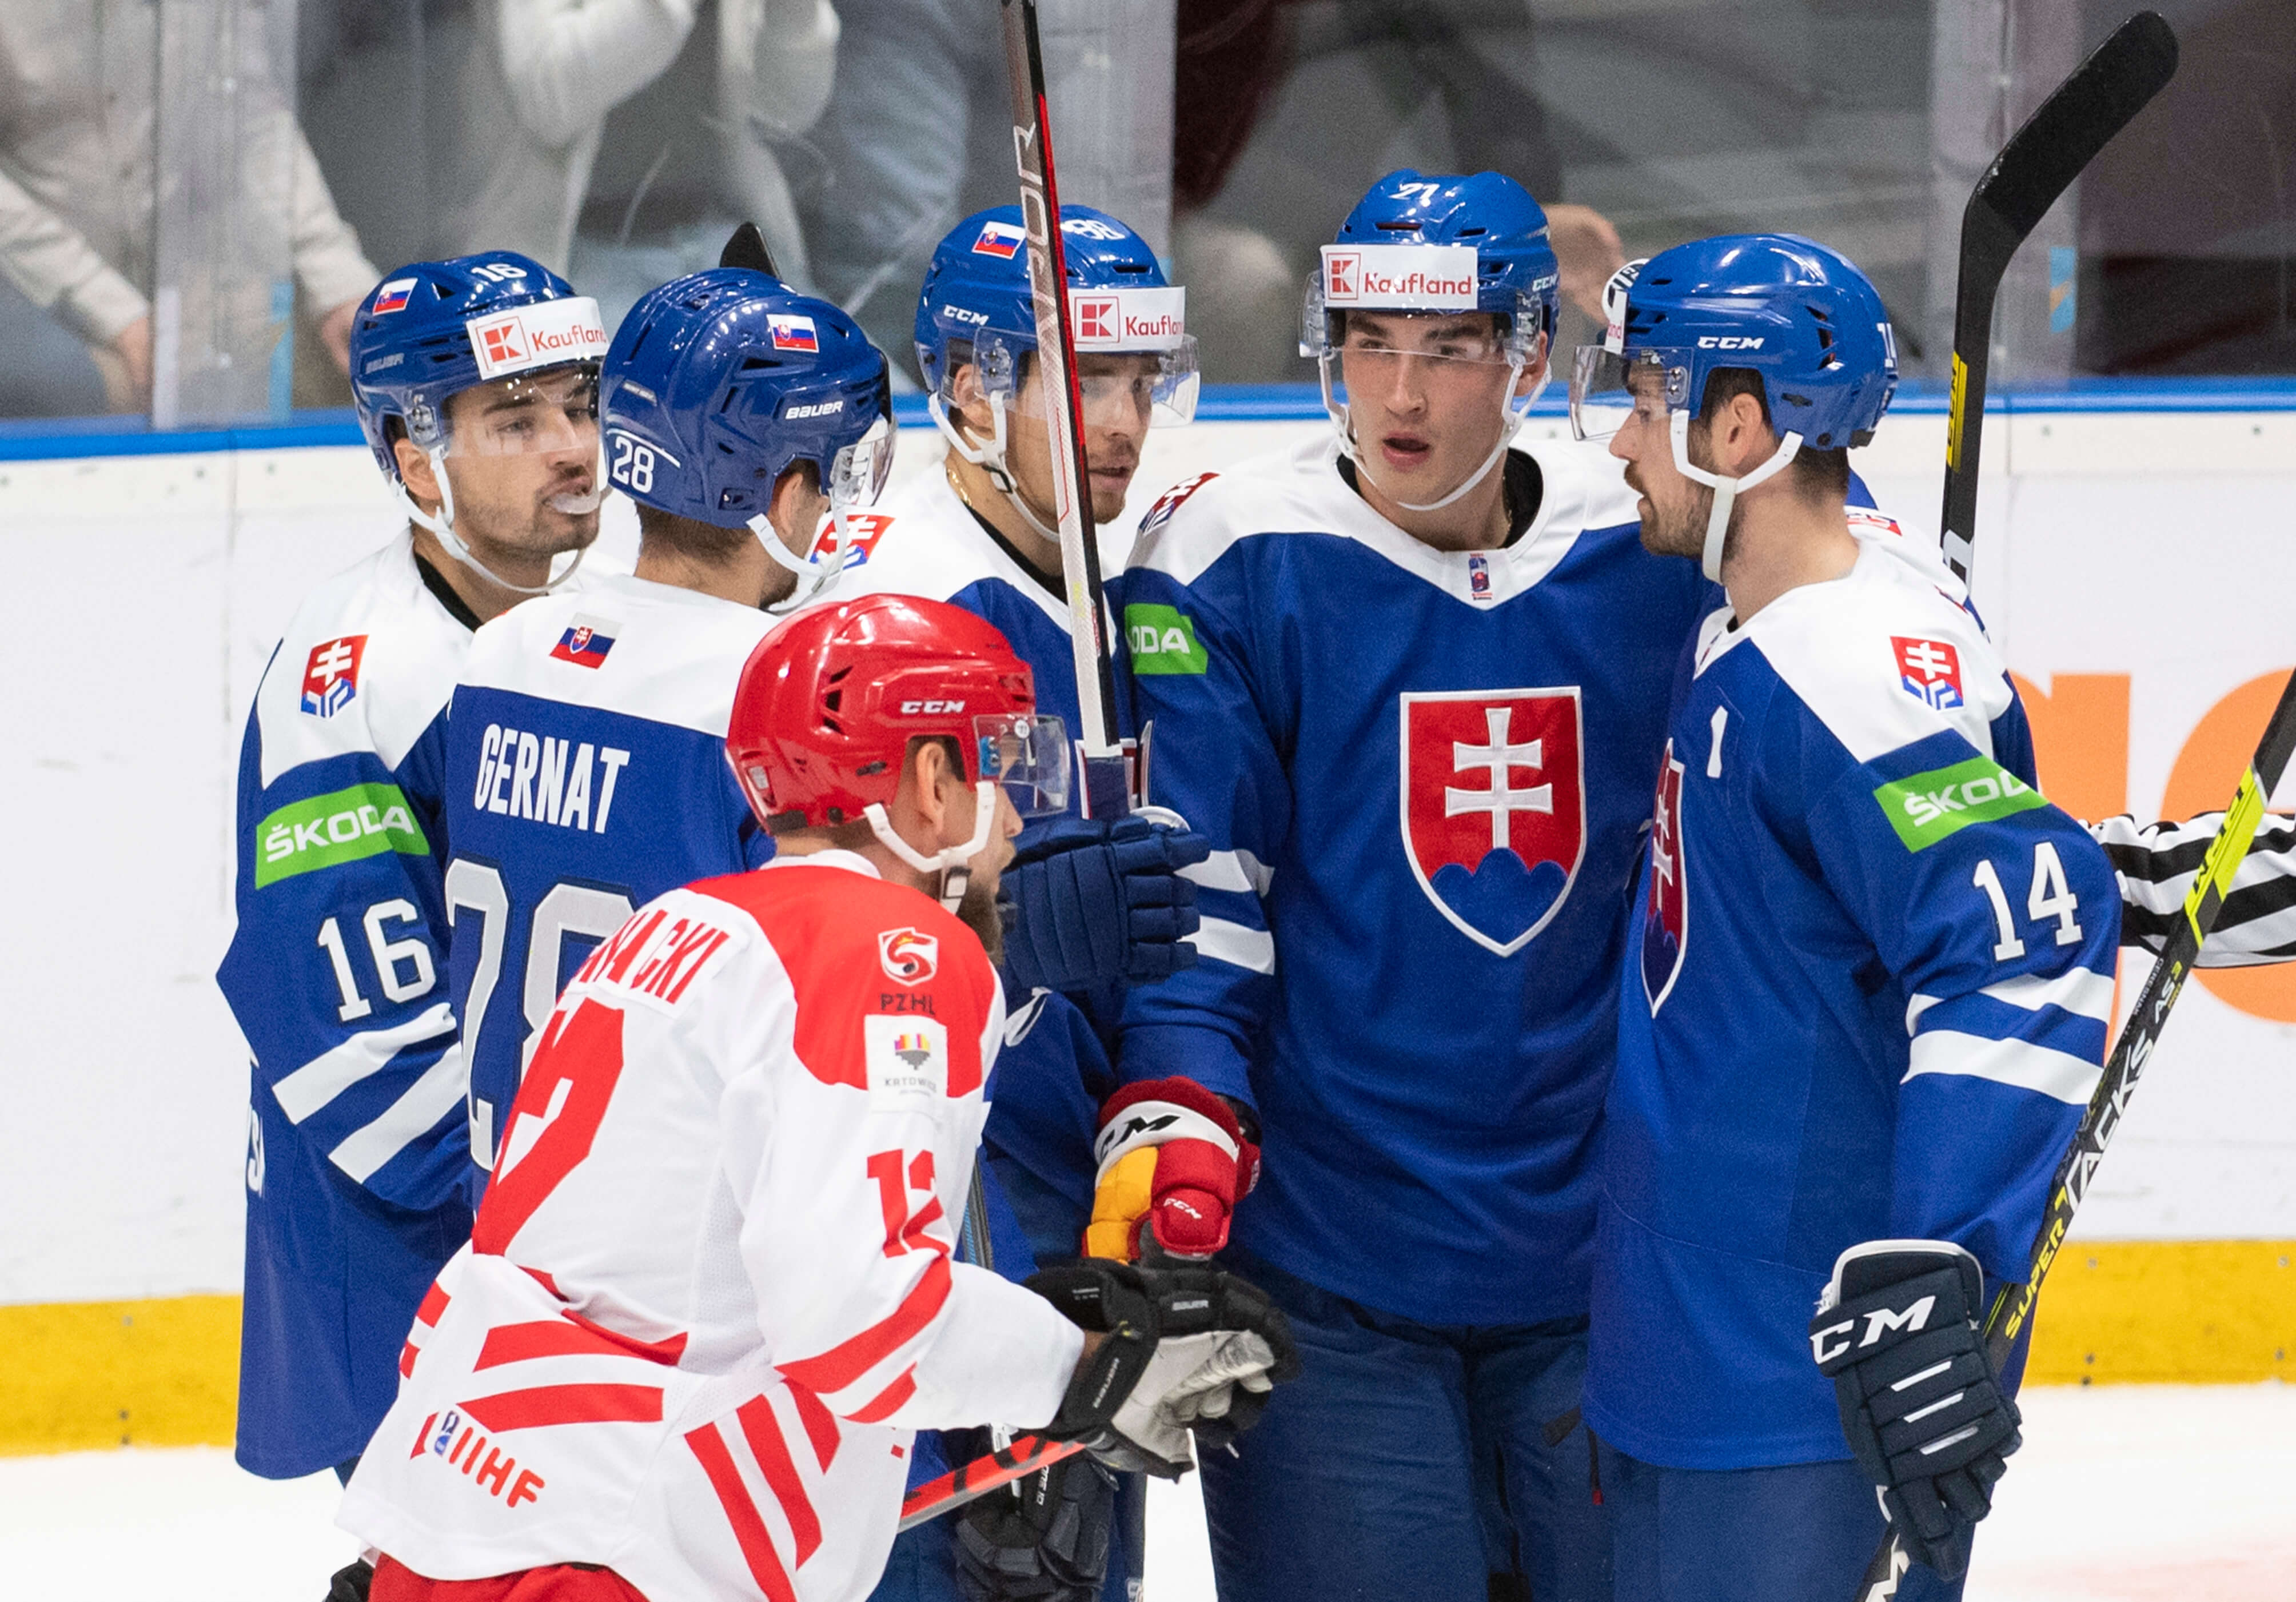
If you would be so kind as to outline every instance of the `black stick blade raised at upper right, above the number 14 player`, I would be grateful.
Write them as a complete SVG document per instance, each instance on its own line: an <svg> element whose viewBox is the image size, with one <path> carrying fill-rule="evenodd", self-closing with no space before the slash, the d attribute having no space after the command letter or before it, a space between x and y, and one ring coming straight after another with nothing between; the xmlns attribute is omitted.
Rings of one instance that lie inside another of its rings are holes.
<svg viewBox="0 0 2296 1602"><path fill-rule="evenodd" d="M2177 34L2158 11L2138 11L2002 145L1961 211L1954 395L1945 415L1945 514L1938 528L1945 530L1945 560L1963 581L1977 539L1977 441L1986 422L1993 296L2009 273L2009 257L2174 71Z"/></svg>

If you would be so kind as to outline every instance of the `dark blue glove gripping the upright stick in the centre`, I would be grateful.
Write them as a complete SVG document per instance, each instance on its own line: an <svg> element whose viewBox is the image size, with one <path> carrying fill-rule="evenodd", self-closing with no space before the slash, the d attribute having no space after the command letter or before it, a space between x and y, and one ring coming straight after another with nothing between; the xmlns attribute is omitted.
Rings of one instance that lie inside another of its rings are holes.
<svg viewBox="0 0 2296 1602"><path fill-rule="evenodd" d="M1189 829L1146 817L1063 817L1035 831L1003 870L1006 980L1013 989L1153 985L1196 964L1196 886L1180 877L1212 854Z"/></svg>

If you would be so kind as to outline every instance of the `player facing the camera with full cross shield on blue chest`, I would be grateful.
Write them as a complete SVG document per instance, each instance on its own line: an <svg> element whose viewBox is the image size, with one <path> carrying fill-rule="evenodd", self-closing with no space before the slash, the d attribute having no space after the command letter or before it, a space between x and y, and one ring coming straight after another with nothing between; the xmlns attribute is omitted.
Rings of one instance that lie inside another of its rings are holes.
<svg viewBox="0 0 2296 1602"><path fill-rule="evenodd" d="M1256 1109L1228 1260L1304 1354L1205 1464L1238 1595L1609 1584L1591 1157L1706 585L1642 551L1600 450L1508 448L1552 319L1520 186L1380 179L1306 308L1334 438L1171 491L1123 581L1148 799L1215 854L1203 962L1132 994L1120 1072Z"/></svg>

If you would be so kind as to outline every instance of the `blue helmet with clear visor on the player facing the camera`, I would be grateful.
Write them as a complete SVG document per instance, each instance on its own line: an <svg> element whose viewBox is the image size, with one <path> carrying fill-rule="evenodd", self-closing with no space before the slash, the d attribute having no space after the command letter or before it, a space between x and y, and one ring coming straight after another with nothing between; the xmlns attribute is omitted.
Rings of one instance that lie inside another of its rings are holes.
<svg viewBox="0 0 2296 1602"><path fill-rule="evenodd" d="M1322 248L1300 310L1300 353L1316 358L1322 409L1357 473L1378 480L1355 445L1355 427L1339 399L1334 370L1343 365L1345 312L1492 312L1499 319L1499 340L1488 356L1444 358L1488 360L1511 376L1499 392L1499 438L1483 466L1437 500L1398 500L1412 512L1433 512L1465 496L1499 464L1545 388L1559 282L1548 213L1504 172L1449 177L1401 168L1373 184L1339 225L1339 239ZM1515 383L1534 363L1538 383L1518 395Z"/></svg>

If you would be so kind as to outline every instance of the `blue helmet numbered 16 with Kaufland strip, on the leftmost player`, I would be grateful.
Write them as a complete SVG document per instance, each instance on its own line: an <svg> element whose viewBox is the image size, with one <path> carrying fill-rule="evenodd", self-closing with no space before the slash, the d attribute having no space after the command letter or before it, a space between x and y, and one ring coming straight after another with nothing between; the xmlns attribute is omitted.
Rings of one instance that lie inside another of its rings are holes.
<svg viewBox="0 0 2296 1602"><path fill-rule="evenodd" d="M390 273L358 305L351 324L351 402L358 427L390 480L406 516L432 530L448 553L519 594L544 594L581 567L581 551L546 585L510 583L455 532L455 484L448 452L519 454L588 450L597 454L597 363L606 324L597 301L517 250L480 250L445 262L413 262ZM572 386L556 374L574 374ZM448 399L482 383L526 390L523 415L503 413L468 441L452 438ZM563 390L563 392L560 392ZM406 493L393 450L393 420L429 457L439 510ZM540 427L537 427L540 425ZM560 496L567 514L597 512L606 487Z"/></svg>

